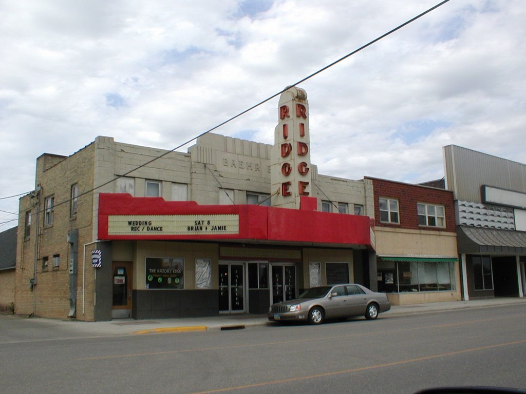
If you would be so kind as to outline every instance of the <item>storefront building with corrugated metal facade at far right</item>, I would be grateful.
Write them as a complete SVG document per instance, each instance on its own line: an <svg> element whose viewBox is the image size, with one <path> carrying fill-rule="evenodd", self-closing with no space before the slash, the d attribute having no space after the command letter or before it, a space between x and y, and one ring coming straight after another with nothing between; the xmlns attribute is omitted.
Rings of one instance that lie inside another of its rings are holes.
<svg viewBox="0 0 526 394"><path fill-rule="evenodd" d="M454 145L443 151L463 298L523 297L526 165Z"/></svg>

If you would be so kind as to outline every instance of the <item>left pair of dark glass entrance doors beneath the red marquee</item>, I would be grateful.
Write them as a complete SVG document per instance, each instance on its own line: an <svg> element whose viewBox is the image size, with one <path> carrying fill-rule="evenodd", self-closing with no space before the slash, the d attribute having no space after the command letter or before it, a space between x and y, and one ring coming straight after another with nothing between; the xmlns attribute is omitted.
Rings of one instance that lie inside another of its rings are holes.
<svg viewBox="0 0 526 394"><path fill-rule="evenodd" d="M245 312L245 265L219 264L219 312Z"/></svg>

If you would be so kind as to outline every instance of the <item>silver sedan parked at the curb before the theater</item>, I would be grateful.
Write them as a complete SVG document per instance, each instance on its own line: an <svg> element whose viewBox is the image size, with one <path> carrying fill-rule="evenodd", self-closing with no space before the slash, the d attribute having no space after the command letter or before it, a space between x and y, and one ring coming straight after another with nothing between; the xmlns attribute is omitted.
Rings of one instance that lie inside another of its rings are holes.
<svg viewBox="0 0 526 394"><path fill-rule="evenodd" d="M357 284L311 287L296 299L270 306L268 319L274 322L299 320L320 324L325 319L365 316L373 320L391 309L384 293Z"/></svg>

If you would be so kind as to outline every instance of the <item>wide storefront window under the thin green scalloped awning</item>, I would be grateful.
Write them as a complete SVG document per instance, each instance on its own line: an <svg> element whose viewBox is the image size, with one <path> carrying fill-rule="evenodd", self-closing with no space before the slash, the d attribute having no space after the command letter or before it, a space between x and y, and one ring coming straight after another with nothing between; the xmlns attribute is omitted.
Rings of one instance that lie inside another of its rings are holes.
<svg viewBox="0 0 526 394"><path fill-rule="evenodd" d="M454 284L454 262L378 262L378 290L383 293L451 291Z"/></svg>

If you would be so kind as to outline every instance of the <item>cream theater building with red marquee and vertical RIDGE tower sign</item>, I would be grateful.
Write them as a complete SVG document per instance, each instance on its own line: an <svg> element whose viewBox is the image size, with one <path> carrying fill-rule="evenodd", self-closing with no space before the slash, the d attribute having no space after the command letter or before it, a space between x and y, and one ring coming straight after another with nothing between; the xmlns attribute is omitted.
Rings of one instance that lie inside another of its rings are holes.
<svg viewBox="0 0 526 394"><path fill-rule="evenodd" d="M274 145L209 133L181 153L97 137L41 155L20 200L16 313L261 314L315 285L376 289L372 183L317 173L305 91L284 92L276 118Z"/></svg>

